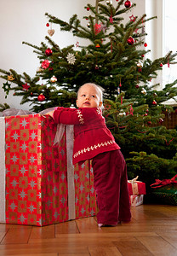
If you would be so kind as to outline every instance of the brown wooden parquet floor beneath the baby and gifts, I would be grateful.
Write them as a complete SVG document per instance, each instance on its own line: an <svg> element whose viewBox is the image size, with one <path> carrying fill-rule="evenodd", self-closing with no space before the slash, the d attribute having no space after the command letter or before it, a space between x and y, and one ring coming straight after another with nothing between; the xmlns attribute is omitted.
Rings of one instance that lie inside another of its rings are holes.
<svg viewBox="0 0 177 256"><path fill-rule="evenodd" d="M98 228L83 218L45 227L0 224L0 255L177 255L177 207L142 205L129 224Z"/></svg>

